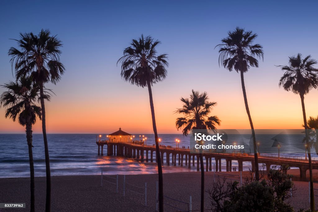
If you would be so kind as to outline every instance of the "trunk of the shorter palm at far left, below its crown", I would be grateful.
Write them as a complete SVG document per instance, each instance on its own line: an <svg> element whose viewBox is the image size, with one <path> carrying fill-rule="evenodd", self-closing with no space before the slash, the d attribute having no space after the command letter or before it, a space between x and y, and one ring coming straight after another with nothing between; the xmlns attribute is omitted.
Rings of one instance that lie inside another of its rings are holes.
<svg viewBox="0 0 318 212"><path fill-rule="evenodd" d="M31 200L30 200L30 211L34 212L35 207L35 198L34 198L34 164L33 164L33 153L32 153L32 125L27 124L25 127L26 140L28 142L29 148L29 162L30 162L30 191L31 191Z"/></svg>

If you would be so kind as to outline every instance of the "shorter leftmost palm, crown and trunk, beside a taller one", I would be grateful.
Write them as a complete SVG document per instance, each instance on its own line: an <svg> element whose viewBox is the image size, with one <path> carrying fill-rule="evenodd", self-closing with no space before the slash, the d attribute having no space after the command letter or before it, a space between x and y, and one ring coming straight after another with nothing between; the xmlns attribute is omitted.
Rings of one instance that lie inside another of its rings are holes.
<svg viewBox="0 0 318 212"><path fill-rule="evenodd" d="M41 108L35 104L38 100L39 86L34 85L30 78L22 78L17 82L10 82L2 87L8 89L0 96L0 106L7 108L5 118L9 117L13 121L18 118L19 124L25 126L30 161L30 211L35 211L32 125L35 124L37 116L41 120Z"/></svg>

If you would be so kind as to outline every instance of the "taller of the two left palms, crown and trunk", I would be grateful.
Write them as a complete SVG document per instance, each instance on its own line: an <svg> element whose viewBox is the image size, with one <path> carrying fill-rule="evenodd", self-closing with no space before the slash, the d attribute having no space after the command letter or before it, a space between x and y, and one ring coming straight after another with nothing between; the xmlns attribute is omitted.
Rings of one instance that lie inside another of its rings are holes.
<svg viewBox="0 0 318 212"><path fill-rule="evenodd" d="M16 39L14 39L16 40ZM31 33L20 33L20 39L16 40L19 49L11 47L12 69L14 67L16 78L32 76L32 79L40 86L40 101L42 109L42 131L45 148L46 166L46 202L45 211L51 210L51 171L49 148L46 137L45 126L45 92L44 84L52 82L56 84L64 73L64 65L60 63L61 41L56 36L51 36L49 30L41 30L38 35Z"/></svg>

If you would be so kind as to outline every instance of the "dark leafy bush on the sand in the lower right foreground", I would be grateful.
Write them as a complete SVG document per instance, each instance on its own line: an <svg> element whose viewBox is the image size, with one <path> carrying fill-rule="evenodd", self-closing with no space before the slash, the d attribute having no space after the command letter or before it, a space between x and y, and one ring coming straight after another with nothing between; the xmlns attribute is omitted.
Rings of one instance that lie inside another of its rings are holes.
<svg viewBox="0 0 318 212"><path fill-rule="evenodd" d="M274 167L267 175L267 180L246 179L239 187L237 181L226 182L217 178L210 189L212 211L216 212L293 212L287 201L295 191L292 175L287 174L289 167ZM252 173L251 173L252 176Z"/></svg>

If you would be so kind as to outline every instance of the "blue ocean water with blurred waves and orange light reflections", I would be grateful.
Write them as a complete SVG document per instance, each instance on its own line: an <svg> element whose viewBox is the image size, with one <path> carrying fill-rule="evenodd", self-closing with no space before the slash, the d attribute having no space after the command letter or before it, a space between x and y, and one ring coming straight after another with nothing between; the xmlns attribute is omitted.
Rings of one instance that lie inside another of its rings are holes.
<svg viewBox="0 0 318 212"><path fill-rule="evenodd" d="M106 138L107 134L102 134ZM136 140L140 134L135 134ZM147 137L147 145L155 143L153 134L141 134ZM137 159L99 156L96 134L48 134L51 175L97 175L103 174L155 174L155 162L142 162ZM162 145L176 146L176 139L181 146L188 148L189 137L182 134L160 134ZM45 155L42 134L33 134L33 158L35 176L45 176ZM106 154L106 148L104 154ZM301 155L301 154L294 154ZM313 154L312 154L313 155ZM304 156L304 155L301 155ZM165 159L164 159L165 161ZM224 166L225 160L223 160ZM212 160L213 163L213 160ZM233 161L232 166L237 166ZM251 163L244 162L243 170L248 170ZM196 167L174 167L163 165L164 173L197 171ZM25 134L0 134L0 178L29 177L29 156Z"/></svg>

